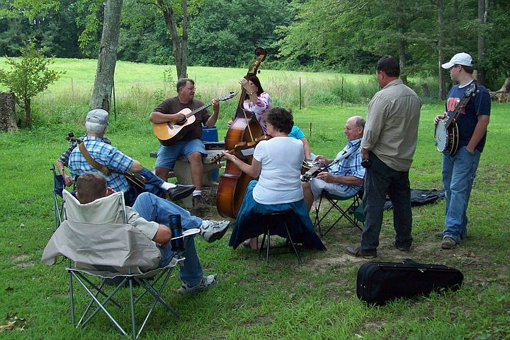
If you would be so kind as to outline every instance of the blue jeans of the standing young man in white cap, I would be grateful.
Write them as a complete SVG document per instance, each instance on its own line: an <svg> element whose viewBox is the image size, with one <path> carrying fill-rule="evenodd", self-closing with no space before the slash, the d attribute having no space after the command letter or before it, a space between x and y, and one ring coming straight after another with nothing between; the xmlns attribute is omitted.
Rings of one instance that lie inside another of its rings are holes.
<svg viewBox="0 0 510 340"><path fill-rule="evenodd" d="M445 230L443 238L456 242L467 237L467 203L469 202L476 170L480 163L480 151L475 154L465 146L453 156L443 155L443 185L445 188Z"/></svg>

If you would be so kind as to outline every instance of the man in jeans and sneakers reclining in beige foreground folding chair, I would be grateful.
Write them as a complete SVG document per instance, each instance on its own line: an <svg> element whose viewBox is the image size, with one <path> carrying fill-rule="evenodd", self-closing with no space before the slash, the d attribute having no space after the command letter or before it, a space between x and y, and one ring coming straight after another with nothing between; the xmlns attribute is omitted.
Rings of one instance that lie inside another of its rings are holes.
<svg viewBox="0 0 510 340"><path fill-rule="evenodd" d="M77 179L77 199L81 204L87 204L101 197L106 197L113 193L111 187L106 186L106 179L97 172L86 172ZM161 199L154 194L148 192L140 194L135 204L126 206L126 222L133 225L138 230L157 243L162 256L159 266L166 266L175 256L175 252L171 250L170 238L171 230L169 229L169 215L179 214L183 230L199 228L200 234L210 233L208 225L215 223L214 221L202 221L196 216L192 216L188 211L172 204L165 199ZM116 221L123 223L123 221ZM204 224L205 228L204 228ZM228 225L227 225L228 226ZM215 235L208 235L212 240L218 240L225 235L225 230L217 231ZM183 281L179 293L192 293L198 291L207 291L215 285L215 275L203 276L202 266L196 254L195 240L192 237L184 238L183 261L179 269L179 278Z"/></svg>

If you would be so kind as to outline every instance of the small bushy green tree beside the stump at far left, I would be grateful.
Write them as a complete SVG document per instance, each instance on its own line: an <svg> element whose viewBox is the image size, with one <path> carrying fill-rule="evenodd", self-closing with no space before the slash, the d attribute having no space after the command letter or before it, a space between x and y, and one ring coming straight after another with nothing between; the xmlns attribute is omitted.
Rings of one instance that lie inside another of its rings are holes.
<svg viewBox="0 0 510 340"><path fill-rule="evenodd" d="M37 49L33 42L22 47L20 52L19 61L7 58L7 64L11 69L0 69L0 83L16 95L16 104L25 109L25 124L30 127L32 124L30 100L55 83L64 72L48 69L53 61L45 57L42 50Z"/></svg>

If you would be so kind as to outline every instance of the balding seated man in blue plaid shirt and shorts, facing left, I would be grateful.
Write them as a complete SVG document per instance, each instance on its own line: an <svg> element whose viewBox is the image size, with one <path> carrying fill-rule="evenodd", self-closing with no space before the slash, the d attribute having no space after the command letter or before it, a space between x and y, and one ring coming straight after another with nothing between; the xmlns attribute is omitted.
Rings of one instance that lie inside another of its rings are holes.
<svg viewBox="0 0 510 340"><path fill-rule="evenodd" d="M312 208L314 200L321 199L323 191L329 194L329 197L348 199L356 197L363 188L365 168L361 166L360 145L364 127L363 117L350 117L344 127L347 145L336 155L336 158L327 159L322 155L314 158L314 162L324 165L324 170L316 177L312 177L310 181L303 180L301 183L308 211ZM317 214L318 212L316 211ZM318 215L316 224L317 221Z"/></svg>

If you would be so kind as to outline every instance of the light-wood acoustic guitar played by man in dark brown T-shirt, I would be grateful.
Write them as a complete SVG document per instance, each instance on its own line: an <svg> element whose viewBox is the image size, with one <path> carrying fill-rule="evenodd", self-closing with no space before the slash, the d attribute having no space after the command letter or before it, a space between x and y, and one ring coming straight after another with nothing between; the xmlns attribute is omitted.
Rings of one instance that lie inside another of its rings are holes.
<svg viewBox="0 0 510 340"><path fill-rule="evenodd" d="M220 101L229 100L234 98L236 94L237 94L236 91L231 91L228 95L223 95L222 97L217 98L217 100ZM157 136L157 139L159 139L159 142L161 142L162 145L172 146L178 141L180 141L188 131L193 129L193 127L191 127L191 124L195 122L195 115L198 112L210 107L210 105L212 105L212 102L200 106L193 111L191 111L188 108L183 109L177 112L182 113L186 116L186 119L184 119L182 122L177 122L174 124L172 124L171 122L154 123L152 124L152 131L154 131L154 134Z"/></svg>

